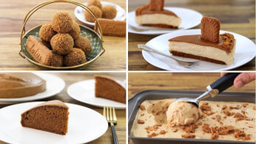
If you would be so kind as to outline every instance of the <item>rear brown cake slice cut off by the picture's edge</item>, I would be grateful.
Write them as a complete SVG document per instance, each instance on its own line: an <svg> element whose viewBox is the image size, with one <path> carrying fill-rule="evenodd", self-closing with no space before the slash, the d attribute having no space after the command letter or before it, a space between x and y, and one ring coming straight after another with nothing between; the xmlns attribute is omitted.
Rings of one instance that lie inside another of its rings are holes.
<svg viewBox="0 0 256 144"><path fill-rule="evenodd" d="M126 90L121 84L107 76L94 76L95 96L126 103Z"/></svg>

